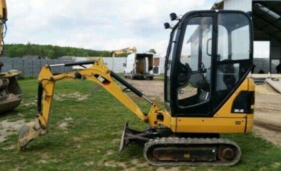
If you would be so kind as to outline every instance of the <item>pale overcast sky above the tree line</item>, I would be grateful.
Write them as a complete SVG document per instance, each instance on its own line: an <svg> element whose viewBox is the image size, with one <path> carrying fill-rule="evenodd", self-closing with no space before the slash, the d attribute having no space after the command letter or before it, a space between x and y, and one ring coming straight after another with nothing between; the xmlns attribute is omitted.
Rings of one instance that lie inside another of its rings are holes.
<svg viewBox="0 0 281 171"><path fill-rule="evenodd" d="M136 46L165 55L169 14L210 9L216 0L6 0L5 43L114 50Z"/></svg>

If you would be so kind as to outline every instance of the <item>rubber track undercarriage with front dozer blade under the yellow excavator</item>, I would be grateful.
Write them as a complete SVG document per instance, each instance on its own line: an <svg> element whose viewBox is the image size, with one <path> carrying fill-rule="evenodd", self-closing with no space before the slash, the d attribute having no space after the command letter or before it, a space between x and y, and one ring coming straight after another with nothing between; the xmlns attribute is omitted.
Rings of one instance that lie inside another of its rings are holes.
<svg viewBox="0 0 281 171"><path fill-rule="evenodd" d="M192 137L192 138L191 138ZM239 146L218 134L175 134L168 128L150 128L143 131L125 128L120 149L130 143L144 144L143 155L148 163L156 166L231 166L241 156Z"/></svg>

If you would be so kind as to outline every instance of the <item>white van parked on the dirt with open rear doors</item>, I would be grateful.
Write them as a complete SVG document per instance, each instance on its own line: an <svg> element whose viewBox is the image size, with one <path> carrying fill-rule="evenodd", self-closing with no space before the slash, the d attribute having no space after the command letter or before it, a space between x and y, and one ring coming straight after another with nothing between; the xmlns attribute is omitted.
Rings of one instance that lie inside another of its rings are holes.
<svg viewBox="0 0 281 171"><path fill-rule="evenodd" d="M153 53L132 53L126 60L124 69L124 77L130 77L132 80L136 78L149 78L153 80Z"/></svg>

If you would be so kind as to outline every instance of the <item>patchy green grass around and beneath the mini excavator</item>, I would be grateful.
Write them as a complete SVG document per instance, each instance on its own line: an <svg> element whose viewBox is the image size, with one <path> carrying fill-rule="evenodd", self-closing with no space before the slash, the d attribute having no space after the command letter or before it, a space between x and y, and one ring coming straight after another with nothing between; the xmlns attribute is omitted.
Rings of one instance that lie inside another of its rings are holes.
<svg viewBox="0 0 281 171"><path fill-rule="evenodd" d="M24 92L23 102L15 111L0 116L0 122L25 119L32 121L36 114L34 103L37 97L36 80L20 80ZM23 152L16 149L3 150L16 145L17 134L10 135L0 143L0 170L107 170L124 169L156 170L149 166L142 156L142 147L129 145L118 153L119 138L124 123L136 129L145 124L133 115L107 91L88 81L60 81L56 83L56 94L67 94L64 100L55 100L50 115L49 133L34 139ZM91 90L92 89L92 90ZM94 89L94 90L93 90ZM72 97L73 92L89 94L84 101ZM150 106L136 101L142 109ZM20 113L20 114L19 114ZM71 117L73 120L65 121ZM67 129L58 126L66 122ZM3 131L0 129L0 132ZM253 134L223 135L237 142L242 150L240 162L233 167L179 167L180 170L281 170L281 147L254 136ZM134 159L134 160L133 160ZM138 160L136 162L136 159ZM126 167L126 168L124 168ZM169 169L170 167L164 167Z"/></svg>

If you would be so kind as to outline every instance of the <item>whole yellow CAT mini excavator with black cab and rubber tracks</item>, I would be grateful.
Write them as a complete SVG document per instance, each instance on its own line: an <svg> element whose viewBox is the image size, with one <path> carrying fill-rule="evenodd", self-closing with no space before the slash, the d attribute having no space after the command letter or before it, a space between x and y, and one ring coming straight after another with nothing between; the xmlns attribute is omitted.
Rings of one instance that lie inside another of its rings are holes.
<svg viewBox="0 0 281 171"><path fill-rule="evenodd" d="M239 146L220 133L248 133L253 126L254 82L247 78L253 61L253 26L249 13L234 10L191 11L171 27L165 62L164 109L112 72L101 59L61 64L94 64L79 71L53 75L46 65L38 78L38 114L19 131L18 147L48 131L54 85L63 79L91 80L103 86L141 121L142 130L125 124L120 151L142 143L143 155L152 165L236 164ZM189 56L188 58L186 56ZM151 104L141 111L115 82L120 82Z"/></svg>

